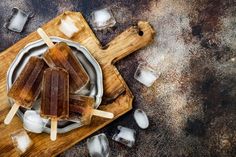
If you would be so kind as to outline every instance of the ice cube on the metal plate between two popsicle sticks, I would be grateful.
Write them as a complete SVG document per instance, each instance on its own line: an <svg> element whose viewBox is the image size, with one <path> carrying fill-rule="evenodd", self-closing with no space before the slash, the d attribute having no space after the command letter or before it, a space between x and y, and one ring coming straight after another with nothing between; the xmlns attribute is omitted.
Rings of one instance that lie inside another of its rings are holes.
<svg viewBox="0 0 236 157"><path fill-rule="evenodd" d="M34 133L41 133L48 120L40 117L39 113L27 110L23 117L23 126L26 130Z"/></svg>

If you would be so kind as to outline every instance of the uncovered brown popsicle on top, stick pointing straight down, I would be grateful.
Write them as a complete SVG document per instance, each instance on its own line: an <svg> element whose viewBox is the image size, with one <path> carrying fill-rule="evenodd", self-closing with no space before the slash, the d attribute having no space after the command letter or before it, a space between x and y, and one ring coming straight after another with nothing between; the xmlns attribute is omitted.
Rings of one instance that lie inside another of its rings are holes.
<svg viewBox="0 0 236 157"><path fill-rule="evenodd" d="M42 82L40 115L51 119L51 140L57 138L57 120L69 116L69 75L62 68L48 68Z"/></svg>

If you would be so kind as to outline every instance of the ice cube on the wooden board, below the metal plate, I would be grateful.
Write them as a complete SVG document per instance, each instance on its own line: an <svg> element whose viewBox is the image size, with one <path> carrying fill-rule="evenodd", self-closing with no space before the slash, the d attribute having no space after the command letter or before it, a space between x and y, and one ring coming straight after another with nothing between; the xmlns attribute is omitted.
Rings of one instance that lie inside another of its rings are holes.
<svg viewBox="0 0 236 157"><path fill-rule="evenodd" d="M17 148L20 154L25 153L33 145L33 141L23 129L12 133L11 138L14 146Z"/></svg>

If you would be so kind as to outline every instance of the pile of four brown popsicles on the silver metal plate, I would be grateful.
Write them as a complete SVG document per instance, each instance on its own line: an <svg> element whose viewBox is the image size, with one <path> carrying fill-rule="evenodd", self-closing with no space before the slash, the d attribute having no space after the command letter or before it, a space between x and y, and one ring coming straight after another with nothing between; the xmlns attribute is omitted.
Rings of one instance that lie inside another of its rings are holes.
<svg viewBox="0 0 236 157"><path fill-rule="evenodd" d="M12 85L8 96L14 99L15 104L4 123L11 122L20 106L30 109L40 92L40 114L51 119L51 140L56 140L57 137L57 120L71 120L88 125L92 115L113 118L113 113L94 109L93 98L72 94L89 82L88 74L66 43L54 45L41 28L37 32L49 49L44 53L43 59L31 57Z"/></svg>

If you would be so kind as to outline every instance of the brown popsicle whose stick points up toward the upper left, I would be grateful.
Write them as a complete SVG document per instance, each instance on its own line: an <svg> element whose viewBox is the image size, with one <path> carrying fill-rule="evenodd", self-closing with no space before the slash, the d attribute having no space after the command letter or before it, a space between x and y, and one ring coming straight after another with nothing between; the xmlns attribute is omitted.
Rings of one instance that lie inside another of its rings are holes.
<svg viewBox="0 0 236 157"><path fill-rule="evenodd" d="M46 63L50 67L61 67L68 71L70 92L74 93L84 87L89 82L89 76L70 47L64 42L54 45L41 28L37 32L49 47L43 55Z"/></svg>

